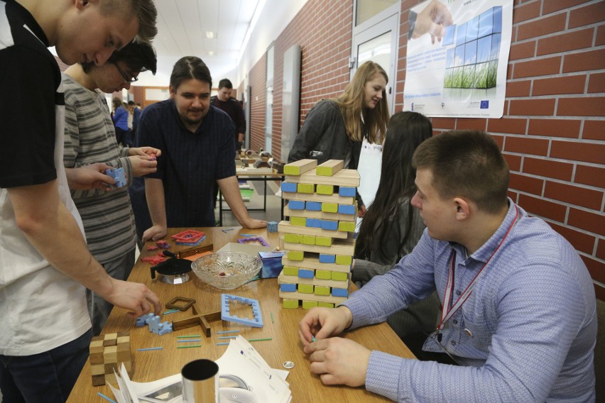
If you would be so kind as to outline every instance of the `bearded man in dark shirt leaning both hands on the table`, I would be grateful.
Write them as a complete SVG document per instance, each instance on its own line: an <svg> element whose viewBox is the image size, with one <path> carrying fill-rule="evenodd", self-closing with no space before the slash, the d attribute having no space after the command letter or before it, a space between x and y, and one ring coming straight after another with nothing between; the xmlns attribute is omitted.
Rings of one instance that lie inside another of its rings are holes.
<svg viewBox="0 0 605 403"><path fill-rule="evenodd" d="M212 77L199 57L182 57L170 74L170 99L143 110L137 143L162 150L144 189L129 189L139 239L156 241L167 227L214 226L214 182L245 228L263 228L244 206L235 176L235 126L210 105ZM148 204L148 209L146 204ZM148 210L148 211L147 211Z"/></svg>

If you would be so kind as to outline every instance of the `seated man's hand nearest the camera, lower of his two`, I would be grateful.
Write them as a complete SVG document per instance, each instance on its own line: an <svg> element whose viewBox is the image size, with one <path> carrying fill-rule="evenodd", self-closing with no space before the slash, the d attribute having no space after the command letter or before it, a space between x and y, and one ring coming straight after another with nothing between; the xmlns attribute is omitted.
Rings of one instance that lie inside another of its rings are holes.
<svg viewBox="0 0 605 403"><path fill-rule="evenodd" d="M310 354L310 370L320 375L324 385L366 384L370 350L346 338L318 340L305 347Z"/></svg>

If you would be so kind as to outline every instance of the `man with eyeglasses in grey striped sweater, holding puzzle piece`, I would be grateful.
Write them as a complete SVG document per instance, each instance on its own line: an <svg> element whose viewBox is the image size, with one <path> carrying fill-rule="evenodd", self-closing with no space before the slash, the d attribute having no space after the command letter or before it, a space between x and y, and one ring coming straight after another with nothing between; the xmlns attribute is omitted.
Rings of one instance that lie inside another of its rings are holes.
<svg viewBox="0 0 605 403"><path fill-rule="evenodd" d="M156 74L156 53L144 42L131 42L116 50L107 63L72 65L62 73L65 87L65 154L67 172L104 163L124 168L128 185L133 177L156 172L156 155L151 147L128 148L116 143L114 125L104 92L130 89L142 71ZM126 280L134 265L136 232L127 187L119 189L72 189L72 199L84 223L88 249L107 273ZM87 289L92 332L101 333L112 304Z"/></svg>

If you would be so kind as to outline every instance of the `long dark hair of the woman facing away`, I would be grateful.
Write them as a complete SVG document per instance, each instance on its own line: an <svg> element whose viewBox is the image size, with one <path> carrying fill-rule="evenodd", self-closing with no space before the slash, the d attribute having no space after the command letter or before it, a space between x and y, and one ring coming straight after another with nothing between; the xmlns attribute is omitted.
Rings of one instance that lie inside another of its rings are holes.
<svg viewBox="0 0 605 403"><path fill-rule="evenodd" d="M410 217L413 206L409 201L416 192L416 171L412 167L412 155L418 145L431 136L432 124L424 115L405 111L391 116L383 144L380 183L376 198L361 221L355 247L356 258L369 258L374 239L382 243L389 236L388 226L378 226L378 223L386 219L397 221L401 212L400 204L403 199L407 199L405 219L408 231L401 241L400 250L403 248L412 226Z"/></svg>

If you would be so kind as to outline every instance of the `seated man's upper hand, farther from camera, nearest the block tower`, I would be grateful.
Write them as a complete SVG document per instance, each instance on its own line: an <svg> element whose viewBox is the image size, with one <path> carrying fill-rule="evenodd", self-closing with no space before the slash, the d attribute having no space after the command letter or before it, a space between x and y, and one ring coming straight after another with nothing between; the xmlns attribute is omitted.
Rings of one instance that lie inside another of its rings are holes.
<svg viewBox="0 0 605 403"><path fill-rule="evenodd" d="M312 336L315 335L317 340L338 336L352 322L353 315L347 307L312 308L298 323L298 337L306 348L312 341Z"/></svg>

